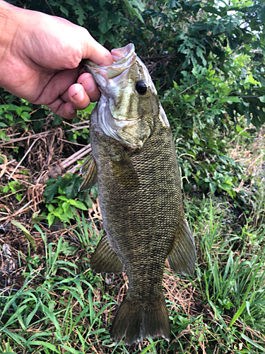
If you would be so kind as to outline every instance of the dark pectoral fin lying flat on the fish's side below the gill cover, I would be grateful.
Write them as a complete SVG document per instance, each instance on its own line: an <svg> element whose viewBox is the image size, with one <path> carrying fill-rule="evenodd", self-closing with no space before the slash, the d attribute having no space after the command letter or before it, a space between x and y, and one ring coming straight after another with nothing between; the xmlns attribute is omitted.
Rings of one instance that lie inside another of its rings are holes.
<svg viewBox="0 0 265 354"><path fill-rule="evenodd" d="M139 185L136 169L134 169L131 159L123 148L119 152L115 151L114 153L114 151L111 151L110 159L112 161L113 175L119 185L126 188L137 187Z"/></svg>

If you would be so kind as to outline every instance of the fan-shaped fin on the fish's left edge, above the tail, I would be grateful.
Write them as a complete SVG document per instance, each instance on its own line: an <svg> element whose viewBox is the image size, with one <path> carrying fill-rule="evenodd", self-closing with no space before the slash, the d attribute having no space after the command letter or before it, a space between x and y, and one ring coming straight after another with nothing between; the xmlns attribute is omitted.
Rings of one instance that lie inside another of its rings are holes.
<svg viewBox="0 0 265 354"><path fill-rule="evenodd" d="M97 249L90 259L90 268L95 273L122 273L124 270L124 265L112 249L106 232L102 235Z"/></svg>

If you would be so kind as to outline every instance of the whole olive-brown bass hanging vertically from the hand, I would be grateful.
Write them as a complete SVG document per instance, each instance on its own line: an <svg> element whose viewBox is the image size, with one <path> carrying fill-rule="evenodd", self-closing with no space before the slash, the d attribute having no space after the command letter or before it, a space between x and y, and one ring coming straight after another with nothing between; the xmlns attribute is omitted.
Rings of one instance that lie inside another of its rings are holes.
<svg viewBox="0 0 265 354"><path fill-rule="evenodd" d="M165 261L192 275L196 249L184 216L175 142L148 69L133 43L111 51L113 64L86 60L101 92L90 117L92 155L80 190L98 183L104 233L90 258L95 273L122 273L129 289L110 336L126 345L170 341L162 280Z"/></svg>

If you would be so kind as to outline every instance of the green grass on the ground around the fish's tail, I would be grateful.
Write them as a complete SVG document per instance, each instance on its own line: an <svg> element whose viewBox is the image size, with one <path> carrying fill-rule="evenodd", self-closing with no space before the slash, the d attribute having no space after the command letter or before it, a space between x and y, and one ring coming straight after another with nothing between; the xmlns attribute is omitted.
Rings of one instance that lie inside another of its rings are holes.
<svg viewBox="0 0 265 354"><path fill-rule="evenodd" d="M70 236L49 240L35 225L44 251L25 259L23 286L0 293L4 353L265 353L264 225L239 229L225 220L228 203L188 200L198 249L194 277L165 270L172 341L118 346L110 341L115 308L127 279L94 275L90 253L100 232L84 217ZM36 236L37 235L37 236ZM29 241L27 241L29 242ZM30 247L30 244L29 244ZM23 263L23 260L21 261ZM167 264L166 264L167 265Z"/></svg>

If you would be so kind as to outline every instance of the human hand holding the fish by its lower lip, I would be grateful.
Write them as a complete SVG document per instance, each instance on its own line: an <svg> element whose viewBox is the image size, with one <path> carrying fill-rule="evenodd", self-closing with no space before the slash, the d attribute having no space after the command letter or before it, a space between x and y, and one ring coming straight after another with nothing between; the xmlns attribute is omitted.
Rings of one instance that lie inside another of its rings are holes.
<svg viewBox="0 0 265 354"><path fill-rule="evenodd" d="M81 59L102 66L113 59L85 28L1 0L0 13L0 86L69 119L98 101L98 86L91 74L81 74Z"/></svg>

